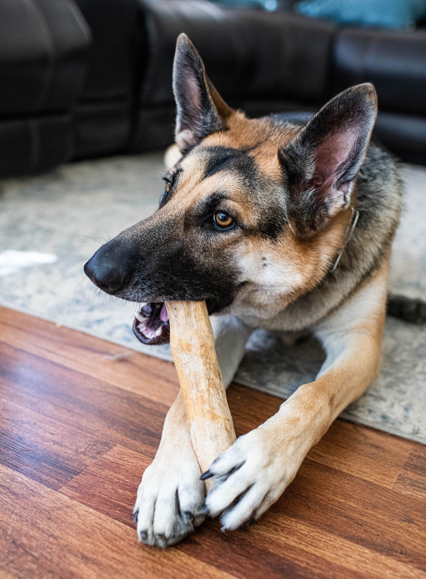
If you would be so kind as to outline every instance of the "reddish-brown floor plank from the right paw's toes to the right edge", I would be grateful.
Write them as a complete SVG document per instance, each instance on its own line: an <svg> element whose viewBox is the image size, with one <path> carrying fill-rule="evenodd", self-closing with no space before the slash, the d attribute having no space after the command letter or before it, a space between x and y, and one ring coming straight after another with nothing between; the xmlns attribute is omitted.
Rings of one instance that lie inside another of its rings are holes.
<svg viewBox="0 0 426 579"><path fill-rule="evenodd" d="M426 512L415 497L307 459L272 512L426 570Z"/></svg>

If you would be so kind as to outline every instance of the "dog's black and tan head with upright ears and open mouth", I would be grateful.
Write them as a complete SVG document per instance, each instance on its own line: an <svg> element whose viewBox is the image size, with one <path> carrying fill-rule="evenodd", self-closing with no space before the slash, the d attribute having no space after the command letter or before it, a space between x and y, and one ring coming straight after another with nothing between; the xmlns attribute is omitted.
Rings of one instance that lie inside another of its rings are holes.
<svg viewBox="0 0 426 579"><path fill-rule="evenodd" d="M173 90L179 158L159 209L85 265L108 294L149 302L134 325L145 343L167 340L165 300L271 317L320 283L346 234L377 112L365 84L305 126L248 119L222 100L184 34Z"/></svg>

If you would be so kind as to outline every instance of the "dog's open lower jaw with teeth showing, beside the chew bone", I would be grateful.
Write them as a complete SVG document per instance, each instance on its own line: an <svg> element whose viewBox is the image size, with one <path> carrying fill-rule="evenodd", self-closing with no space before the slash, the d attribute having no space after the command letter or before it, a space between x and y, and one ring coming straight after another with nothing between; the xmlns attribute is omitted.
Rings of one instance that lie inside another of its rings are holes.
<svg viewBox="0 0 426 579"><path fill-rule="evenodd" d="M142 344L167 344L170 341L170 323L164 303L145 303L135 315L133 333Z"/></svg>

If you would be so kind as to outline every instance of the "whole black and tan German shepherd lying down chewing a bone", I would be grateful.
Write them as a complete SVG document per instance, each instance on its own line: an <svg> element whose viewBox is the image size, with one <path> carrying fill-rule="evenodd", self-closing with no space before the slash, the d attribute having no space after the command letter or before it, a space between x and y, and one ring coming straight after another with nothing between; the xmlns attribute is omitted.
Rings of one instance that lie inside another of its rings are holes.
<svg viewBox="0 0 426 579"><path fill-rule="evenodd" d="M206 514L221 516L223 529L258 519L372 382L402 203L397 164L370 144L370 84L338 94L308 122L248 119L222 100L181 34L173 90L179 160L159 209L103 245L87 276L146 303L134 323L144 343L168 340L165 300L207 301L225 385L254 328L313 332L326 360L314 382L216 458L202 477L214 482L207 496L178 395L134 508L139 540L160 547Z"/></svg>

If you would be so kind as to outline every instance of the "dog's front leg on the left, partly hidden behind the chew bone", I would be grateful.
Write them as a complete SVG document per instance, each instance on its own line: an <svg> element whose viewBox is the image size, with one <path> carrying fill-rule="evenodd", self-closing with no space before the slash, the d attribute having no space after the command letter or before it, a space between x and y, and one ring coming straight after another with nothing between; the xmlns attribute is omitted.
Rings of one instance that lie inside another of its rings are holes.
<svg viewBox="0 0 426 579"><path fill-rule="evenodd" d="M234 317L212 316L211 322L223 381L228 386L252 330ZM167 413L155 459L138 488L134 515L142 543L173 545L204 521L205 490L200 475L179 392Z"/></svg>

